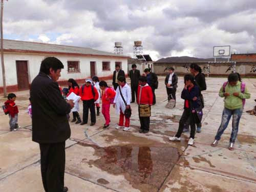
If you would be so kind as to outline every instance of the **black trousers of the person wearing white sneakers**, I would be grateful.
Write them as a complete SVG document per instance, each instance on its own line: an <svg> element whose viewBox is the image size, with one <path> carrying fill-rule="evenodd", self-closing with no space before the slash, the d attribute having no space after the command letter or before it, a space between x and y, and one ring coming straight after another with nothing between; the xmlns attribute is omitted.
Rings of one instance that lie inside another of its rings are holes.
<svg viewBox="0 0 256 192"><path fill-rule="evenodd" d="M190 138L195 138L195 133L196 133L196 123L195 120L193 118L192 112L190 109L184 109L183 114L180 118L180 122L179 122L179 129L177 134L175 135L176 137L180 137L182 134L182 131L184 129L184 124L185 122L188 120L189 124L190 124Z"/></svg>

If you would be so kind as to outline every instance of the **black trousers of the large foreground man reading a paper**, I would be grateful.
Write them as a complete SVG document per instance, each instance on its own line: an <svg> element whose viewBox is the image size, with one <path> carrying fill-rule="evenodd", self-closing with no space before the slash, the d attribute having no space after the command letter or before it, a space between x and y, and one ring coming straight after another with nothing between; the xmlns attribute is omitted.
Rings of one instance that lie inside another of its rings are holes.
<svg viewBox="0 0 256 192"><path fill-rule="evenodd" d="M65 141L39 143L42 184L46 192L63 192L65 173Z"/></svg>

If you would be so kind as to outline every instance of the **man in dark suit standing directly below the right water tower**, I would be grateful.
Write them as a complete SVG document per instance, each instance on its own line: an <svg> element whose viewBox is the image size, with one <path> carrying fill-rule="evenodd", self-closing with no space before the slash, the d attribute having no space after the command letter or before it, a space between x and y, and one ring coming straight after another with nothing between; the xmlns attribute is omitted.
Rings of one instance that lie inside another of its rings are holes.
<svg viewBox="0 0 256 192"><path fill-rule="evenodd" d="M135 64L132 65L132 70L129 71L129 77L131 79L131 89L132 89L132 103L135 102L135 96L137 100L137 90L139 85L139 77L140 71L136 69L137 66Z"/></svg>

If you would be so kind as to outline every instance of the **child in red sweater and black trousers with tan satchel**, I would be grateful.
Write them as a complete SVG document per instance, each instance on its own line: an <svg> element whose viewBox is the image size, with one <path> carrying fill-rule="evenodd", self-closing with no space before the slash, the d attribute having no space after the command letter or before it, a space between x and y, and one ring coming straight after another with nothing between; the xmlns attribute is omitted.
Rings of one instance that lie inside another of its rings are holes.
<svg viewBox="0 0 256 192"><path fill-rule="evenodd" d="M150 131L151 105L153 104L153 93L148 86L147 78L139 77L139 87L137 91L137 103L139 104L140 133Z"/></svg>

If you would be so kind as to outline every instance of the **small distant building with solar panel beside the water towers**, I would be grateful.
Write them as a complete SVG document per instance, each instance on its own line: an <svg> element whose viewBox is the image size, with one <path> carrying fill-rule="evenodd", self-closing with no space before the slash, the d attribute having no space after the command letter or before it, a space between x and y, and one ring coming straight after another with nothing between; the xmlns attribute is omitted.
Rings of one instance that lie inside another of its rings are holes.
<svg viewBox="0 0 256 192"><path fill-rule="evenodd" d="M154 72L154 61L150 55L137 55L136 57L128 59L128 71L132 70L133 64L136 64L140 74L143 74L146 68L151 68L151 71Z"/></svg>

